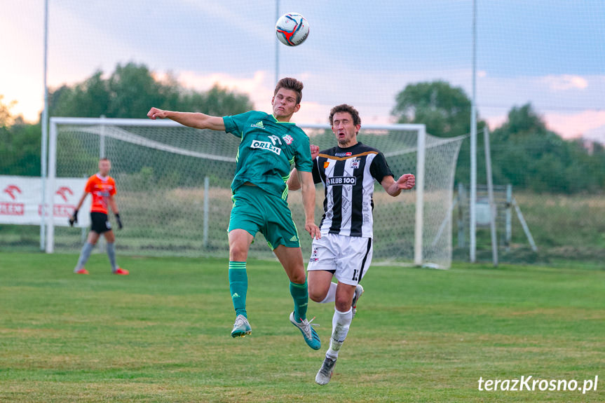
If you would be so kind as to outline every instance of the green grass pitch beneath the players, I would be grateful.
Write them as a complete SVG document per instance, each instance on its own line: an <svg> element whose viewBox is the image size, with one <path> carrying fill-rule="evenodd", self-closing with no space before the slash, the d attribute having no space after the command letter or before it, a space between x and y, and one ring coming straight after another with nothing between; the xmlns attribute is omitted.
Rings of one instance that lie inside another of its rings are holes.
<svg viewBox="0 0 605 403"><path fill-rule="evenodd" d="M231 339L224 259L0 254L0 402L603 402L605 271L372 267L332 381L290 325L287 278L250 261L252 336ZM584 379L597 391L487 392L484 379Z"/></svg>

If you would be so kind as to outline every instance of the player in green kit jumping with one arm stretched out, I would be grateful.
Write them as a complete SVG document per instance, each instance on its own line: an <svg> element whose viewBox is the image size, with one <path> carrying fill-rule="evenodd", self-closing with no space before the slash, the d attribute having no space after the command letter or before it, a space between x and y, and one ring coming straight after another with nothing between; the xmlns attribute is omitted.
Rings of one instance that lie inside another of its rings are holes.
<svg viewBox="0 0 605 403"><path fill-rule="evenodd" d="M290 322L300 329L308 346L318 350L320 339L306 319L306 276L297 229L286 201L286 183L290 165L294 164L301 183L305 229L313 238L320 238L314 219L315 185L309 140L297 125L290 123L292 115L300 109L302 89L300 81L282 78L271 100L272 115L249 111L219 117L151 108L147 116L169 118L191 128L223 130L241 138L231 183L233 208L229 219L229 289L236 310L231 336L252 332L245 306L246 260L254 235L260 231L290 278L290 294L294 299Z"/></svg>

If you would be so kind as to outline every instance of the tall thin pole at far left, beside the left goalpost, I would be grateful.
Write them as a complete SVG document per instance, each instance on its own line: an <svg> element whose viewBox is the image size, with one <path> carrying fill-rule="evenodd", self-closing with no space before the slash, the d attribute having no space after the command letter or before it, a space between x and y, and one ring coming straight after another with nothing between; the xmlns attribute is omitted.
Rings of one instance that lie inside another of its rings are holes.
<svg viewBox="0 0 605 403"><path fill-rule="evenodd" d="M48 86L46 85L47 76L47 54L48 54L48 0L44 0L44 56L43 56L43 82L44 82L44 109L42 111L42 144L41 144L41 155L40 155L40 176L42 181L42 201L40 208L40 250L46 248L46 228L45 220L46 214L53 214L47 212L46 209L46 158L47 158L47 145L48 145ZM52 192L51 192L52 193ZM52 197L52 196L51 196Z"/></svg>

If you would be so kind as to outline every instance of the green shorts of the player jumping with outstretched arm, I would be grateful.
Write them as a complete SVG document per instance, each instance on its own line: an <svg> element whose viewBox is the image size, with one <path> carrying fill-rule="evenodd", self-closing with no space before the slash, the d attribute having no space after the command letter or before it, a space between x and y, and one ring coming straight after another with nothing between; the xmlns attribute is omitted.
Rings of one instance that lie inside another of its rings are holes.
<svg viewBox="0 0 605 403"><path fill-rule="evenodd" d="M287 202L258 186L240 186L231 199L229 231L243 229L255 236L261 232L271 250L279 245L300 247L296 225Z"/></svg>

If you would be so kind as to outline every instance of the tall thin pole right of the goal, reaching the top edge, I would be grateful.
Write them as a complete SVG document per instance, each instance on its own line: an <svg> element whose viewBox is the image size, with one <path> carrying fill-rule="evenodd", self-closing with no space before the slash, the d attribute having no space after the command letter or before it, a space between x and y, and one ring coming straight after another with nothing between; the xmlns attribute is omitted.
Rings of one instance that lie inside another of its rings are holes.
<svg viewBox="0 0 605 403"><path fill-rule="evenodd" d="M473 98L470 101L470 262L477 250L477 0L473 0Z"/></svg>

